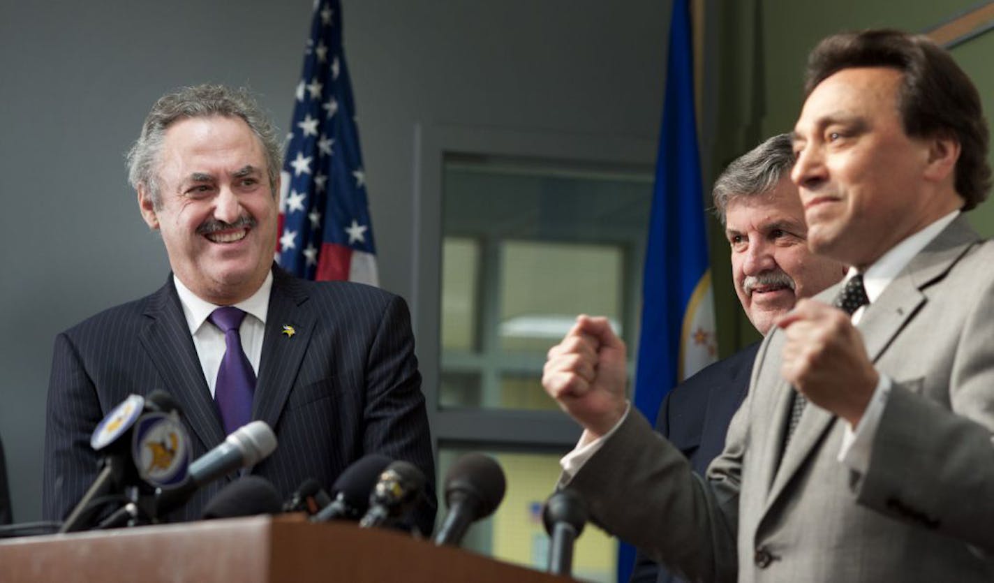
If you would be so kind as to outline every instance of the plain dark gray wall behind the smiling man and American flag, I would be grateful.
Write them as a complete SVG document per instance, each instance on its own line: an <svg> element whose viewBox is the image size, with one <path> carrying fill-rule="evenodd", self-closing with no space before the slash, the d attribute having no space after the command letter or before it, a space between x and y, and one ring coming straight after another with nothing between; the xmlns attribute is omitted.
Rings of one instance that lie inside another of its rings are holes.
<svg viewBox="0 0 994 583"><path fill-rule="evenodd" d="M388 290L414 293L415 124L589 140L658 131L669 2L344 4ZM309 0L0 2L0 437L18 521L40 515L55 334L154 291L168 273L124 176L144 114L171 88L212 81L248 86L285 127L310 9ZM437 338L433 327L420 321L418 336Z"/></svg>

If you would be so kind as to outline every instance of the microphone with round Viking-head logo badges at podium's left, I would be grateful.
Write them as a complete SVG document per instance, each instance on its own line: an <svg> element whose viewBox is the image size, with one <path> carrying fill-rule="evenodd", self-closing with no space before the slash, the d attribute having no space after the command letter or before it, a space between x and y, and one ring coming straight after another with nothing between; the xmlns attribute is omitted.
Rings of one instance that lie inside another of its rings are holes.
<svg viewBox="0 0 994 583"><path fill-rule="evenodd" d="M89 439L90 447L103 454L100 470L59 532L85 528L104 505L101 500L122 493L124 486L147 489L149 484L182 481L189 464L189 439L179 418L179 405L161 389L145 397L128 395L110 410ZM134 435L136 431L138 435ZM157 456L146 449L150 446L160 448ZM143 463L149 456L154 457L154 463Z"/></svg>

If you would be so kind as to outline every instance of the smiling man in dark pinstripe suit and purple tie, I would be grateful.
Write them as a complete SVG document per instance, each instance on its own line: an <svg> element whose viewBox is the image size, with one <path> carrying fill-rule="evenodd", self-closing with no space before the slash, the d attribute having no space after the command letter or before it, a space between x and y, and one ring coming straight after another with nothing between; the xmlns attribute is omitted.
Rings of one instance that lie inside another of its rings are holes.
<svg viewBox="0 0 994 583"><path fill-rule="evenodd" d="M89 435L100 419L129 393L163 389L182 408L194 459L249 420L272 427L278 447L251 473L283 496L309 478L329 488L369 453L413 463L428 479L415 519L430 531L434 465L407 304L272 265L280 158L247 93L199 86L152 107L129 179L173 274L56 338L45 518L64 518L96 475ZM224 483L171 517L200 517Z"/></svg>

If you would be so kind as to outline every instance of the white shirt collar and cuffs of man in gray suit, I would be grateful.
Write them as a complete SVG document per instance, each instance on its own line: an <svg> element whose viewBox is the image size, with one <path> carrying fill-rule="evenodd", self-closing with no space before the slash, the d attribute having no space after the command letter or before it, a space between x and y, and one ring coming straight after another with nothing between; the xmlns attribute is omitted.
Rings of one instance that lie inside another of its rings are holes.
<svg viewBox="0 0 994 583"><path fill-rule="evenodd" d="M885 253L879 260L877 260L867 271L863 274L863 287L866 289L867 297L870 299L870 303L873 303L881 293L894 281L895 278L904 270L911 259L914 258L922 249L925 248L929 243L935 239L943 229L949 226L952 221L959 216L959 211L953 211L948 215L945 215L941 219L931 223L924 229L918 231L917 233L911 235L911 237L905 239L898 245L894 246L891 251ZM858 272L855 269L850 269L849 274L846 276L848 281ZM853 323L859 323L860 319L863 317L863 312L866 311L866 306L860 307L853 313ZM887 405L887 398L891 391L892 381L887 375L880 375L880 382L877 384L877 388L874 389L873 397L870 400L869 405L867 405L866 411L863 413L863 417L860 419L859 425L855 428L851 428L848 424L846 425L846 432L842 438L842 448L839 451L839 462L845 464L851 470L858 472L860 474L866 474L867 470L870 468L870 455L873 450L873 438L877 434L877 428L880 426L880 420L884 413L884 406ZM562 460L560 460L560 466L563 468L563 473L565 474L565 479L570 480L582 468L583 464L586 463L593 455L600 449L604 441L607 440L621 424L628 417L631 411L631 404L628 404L628 408L625 410L624 415L618 420L617 424L611 428L611 430L589 442L584 443L583 437L580 437L580 443L576 448ZM584 433L585 437L585 433Z"/></svg>

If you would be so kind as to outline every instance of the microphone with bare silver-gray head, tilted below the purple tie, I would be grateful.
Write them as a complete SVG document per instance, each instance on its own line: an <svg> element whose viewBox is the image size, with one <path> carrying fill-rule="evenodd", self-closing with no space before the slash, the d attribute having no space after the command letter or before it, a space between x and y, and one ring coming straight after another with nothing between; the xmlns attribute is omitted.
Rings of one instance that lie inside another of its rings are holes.
<svg viewBox="0 0 994 583"><path fill-rule="evenodd" d="M221 445L190 464L187 480L180 486L156 490L156 514L183 505L199 488L231 472L261 462L276 449L276 435L264 421L252 421L229 435Z"/></svg>

